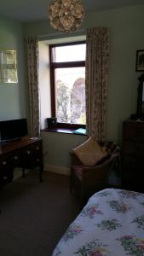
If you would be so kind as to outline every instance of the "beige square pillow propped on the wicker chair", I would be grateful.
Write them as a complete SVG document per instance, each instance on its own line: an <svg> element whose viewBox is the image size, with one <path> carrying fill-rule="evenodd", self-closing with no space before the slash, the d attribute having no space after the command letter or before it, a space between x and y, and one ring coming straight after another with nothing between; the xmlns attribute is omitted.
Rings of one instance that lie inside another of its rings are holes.
<svg viewBox="0 0 144 256"><path fill-rule="evenodd" d="M73 148L73 151L85 166L95 166L98 161L107 156L107 152L95 141L94 137L89 137L86 142Z"/></svg>

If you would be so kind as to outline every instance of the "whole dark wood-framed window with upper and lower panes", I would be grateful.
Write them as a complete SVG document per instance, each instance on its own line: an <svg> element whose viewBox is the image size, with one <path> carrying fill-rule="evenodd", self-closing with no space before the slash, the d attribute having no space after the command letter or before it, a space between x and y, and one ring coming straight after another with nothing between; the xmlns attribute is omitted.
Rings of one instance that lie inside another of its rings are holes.
<svg viewBox="0 0 144 256"><path fill-rule="evenodd" d="M50 45L52 116L85 125L85 42Z"/></svg>

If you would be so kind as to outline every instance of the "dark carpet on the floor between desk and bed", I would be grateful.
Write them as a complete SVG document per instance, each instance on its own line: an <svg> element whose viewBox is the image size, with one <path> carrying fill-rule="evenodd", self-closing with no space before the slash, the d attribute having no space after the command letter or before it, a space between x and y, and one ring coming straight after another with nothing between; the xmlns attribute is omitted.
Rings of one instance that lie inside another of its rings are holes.
<svg viewBox="0 0 144 256"><path fill-rule="evenodd" d="M50 256L60 237L79 213L69 193L69 177L37 170L0 191L0 255Z"/></svg>

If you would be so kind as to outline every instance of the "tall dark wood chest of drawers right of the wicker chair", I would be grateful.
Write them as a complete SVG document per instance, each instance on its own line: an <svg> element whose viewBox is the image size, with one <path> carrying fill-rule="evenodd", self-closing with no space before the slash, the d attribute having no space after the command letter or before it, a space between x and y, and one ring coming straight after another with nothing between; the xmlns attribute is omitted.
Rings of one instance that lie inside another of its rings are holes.
<svg viewBox="0 0 144 256"><path fill-rule="evenodd" d="M144 192L144 122L140 120L123 124L122 186Z"/></svg>

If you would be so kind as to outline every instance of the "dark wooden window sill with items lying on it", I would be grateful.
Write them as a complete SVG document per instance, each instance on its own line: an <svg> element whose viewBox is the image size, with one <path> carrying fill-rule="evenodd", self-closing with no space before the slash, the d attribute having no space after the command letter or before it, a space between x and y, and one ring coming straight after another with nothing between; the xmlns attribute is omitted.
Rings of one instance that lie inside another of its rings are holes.
<svg viewBox="0 0 144 256"><path fill-rule="evenodd" d="M80 135L80 136L87 136L87 134L83 133L74 133L76 131L76 128L63 128L63 127L55 127L55 128L46 128L41 131L46 131L46 132L56 132L56 133L66 133L66 134L73 134L73 135Z"/></svg>

